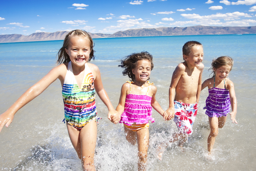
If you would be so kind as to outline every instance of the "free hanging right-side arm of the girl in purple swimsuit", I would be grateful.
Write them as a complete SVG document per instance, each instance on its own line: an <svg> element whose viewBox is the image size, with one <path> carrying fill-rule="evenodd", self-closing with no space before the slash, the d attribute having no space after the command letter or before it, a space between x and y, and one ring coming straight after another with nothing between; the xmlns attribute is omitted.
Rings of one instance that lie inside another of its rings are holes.
<svg viewBox="0 0 256 171"><path fill-rule="evenodd" d="M230 102L231 102L231 108L232 112L230 112L230 118L233 123L238 123L236 120L237 115L237 97L236 93L234 92L234 84L231 80L228 80L227 82L227 88L229 90L229 96L230 96Z"/></svg>

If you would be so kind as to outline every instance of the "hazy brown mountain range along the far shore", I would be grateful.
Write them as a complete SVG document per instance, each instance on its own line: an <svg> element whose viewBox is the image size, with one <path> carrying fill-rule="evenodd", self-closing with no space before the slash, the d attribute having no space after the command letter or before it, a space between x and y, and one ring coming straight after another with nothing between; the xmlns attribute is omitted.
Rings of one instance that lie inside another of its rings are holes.
<svg viewBox="0 0 256 171"><path fill-rule="evenodd" d="M39 32L29 36L22 34L0 35L0 43L22 42L22 41L47 41L63 40L69 31L57 31L54 33ZM118 31L114 34L89 33L92 38L106 37L141 37L141 36L174 36L174 35L214 35L214 34L256 34L256 26L251 27L214 27L214 26L193 26L193 27L159 27L152 29L129 29Z"/></svg>

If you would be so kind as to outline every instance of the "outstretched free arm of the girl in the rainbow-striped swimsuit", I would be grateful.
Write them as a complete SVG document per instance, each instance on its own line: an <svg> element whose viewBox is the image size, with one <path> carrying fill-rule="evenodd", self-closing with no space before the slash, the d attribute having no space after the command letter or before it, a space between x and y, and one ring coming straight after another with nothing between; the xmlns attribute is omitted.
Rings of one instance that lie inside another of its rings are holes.
<svg viewBox="0 0 256 171"><path fill-rule="evenodd" d="M31 100L33 100L39 94L44 92L48 88L48 86L50 86L50 84L54 82L57 78L62 81L63 78L65 78L64 75L66 75L66 72L67 67L64 64L53 68L46 76L40 79L37 83L34 84L34 86L29 88L22 96L20 96L6 112L0 115L0 132L3 129L4 125L8 127L11 124L15 113L19 109L21 109Z"/></svg>

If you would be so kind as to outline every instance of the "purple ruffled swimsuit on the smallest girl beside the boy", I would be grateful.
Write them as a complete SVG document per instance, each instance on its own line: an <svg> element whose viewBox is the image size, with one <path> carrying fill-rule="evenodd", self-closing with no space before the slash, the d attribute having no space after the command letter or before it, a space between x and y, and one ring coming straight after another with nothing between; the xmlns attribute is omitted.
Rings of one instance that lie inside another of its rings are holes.
<svg viewBox="0 0 256 171"><path fill-rule="evenodd" d="M225 84L225 80L224 80ZM228 89L208 89L209 96L206 99L205 114L209 117L227 116L230 112L230 98Z"/></svg>

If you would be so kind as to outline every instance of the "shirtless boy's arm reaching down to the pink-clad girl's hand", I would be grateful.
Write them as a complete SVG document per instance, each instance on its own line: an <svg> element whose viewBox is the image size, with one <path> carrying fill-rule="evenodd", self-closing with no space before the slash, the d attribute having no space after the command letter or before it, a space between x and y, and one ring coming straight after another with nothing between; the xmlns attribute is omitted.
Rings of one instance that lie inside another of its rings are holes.
<svg viewBox="0 0 256 171"><path fill-rule="evenodd" d="M177 87L177 84L183 74L185 70L185 66L180 63L172 76L172 81L170 82L170 87L169 87L169 108L164 112L164 116L166 118L166 116L168 117L169 115L171 116L171 118L174 117L175 115L175 111L174 111L174 98L175 98L175 89Z"/></svg>

